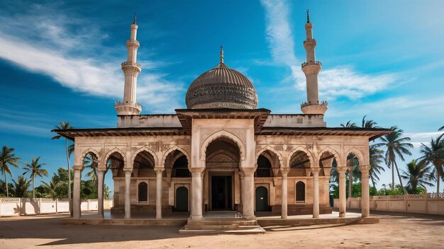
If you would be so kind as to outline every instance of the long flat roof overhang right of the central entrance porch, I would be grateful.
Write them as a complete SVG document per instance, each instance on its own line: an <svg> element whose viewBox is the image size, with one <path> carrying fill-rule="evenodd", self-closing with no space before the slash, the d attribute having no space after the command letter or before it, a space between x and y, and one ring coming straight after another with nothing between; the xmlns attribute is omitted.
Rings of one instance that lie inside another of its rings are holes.
<svg viewBox="0 0 444 249"><path fill-rule="evenodd" d="M370 141L392 133L392 129L359 127L262 127L267 136L361 136Z"/></svg>

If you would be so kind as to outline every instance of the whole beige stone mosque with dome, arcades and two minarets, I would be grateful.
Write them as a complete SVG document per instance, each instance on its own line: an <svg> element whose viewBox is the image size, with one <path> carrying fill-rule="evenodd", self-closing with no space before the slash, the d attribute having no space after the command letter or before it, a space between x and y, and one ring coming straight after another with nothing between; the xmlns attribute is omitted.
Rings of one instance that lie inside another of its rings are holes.
<svg viewBox="0 0 444 249"><path fill-rule="evenodd" d="M103 217L104 173L113 176L113 214L146 214L156 219L176 212L192 221L211 212L235 212L247 221L256 216L331 214L329 180L333 162L339 173L339 216L345 216L345 173L353 154L362 173L362 217L370 215L369 141L387 129L327 127L328 103L318 98L316 40L305 25L307 100L302 114L272 114L257 108L255 87L223 61L188 88L186 109L143 115L136 101L141 71L137 63L138 25L126 41L128 59L118 125L106 129L65 129L74 141L74 217L81 216L80 179L84 158L98 162L99 216Z"/></svg>

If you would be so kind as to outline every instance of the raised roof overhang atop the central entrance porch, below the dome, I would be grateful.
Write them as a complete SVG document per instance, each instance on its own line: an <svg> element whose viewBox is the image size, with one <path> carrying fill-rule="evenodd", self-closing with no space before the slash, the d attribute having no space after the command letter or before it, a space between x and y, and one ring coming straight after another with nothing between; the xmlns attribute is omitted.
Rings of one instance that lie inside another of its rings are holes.
<svg viewBox="0 0 444 249"><path fill-rule="evenodd" d="M267 121L271 110L260 109L231 109L231 108L208 108L208 109L176 109L177 117L186 134L191 134L193 119L246 119L255 120L255 133L260 132L262 125Z"/></svg>

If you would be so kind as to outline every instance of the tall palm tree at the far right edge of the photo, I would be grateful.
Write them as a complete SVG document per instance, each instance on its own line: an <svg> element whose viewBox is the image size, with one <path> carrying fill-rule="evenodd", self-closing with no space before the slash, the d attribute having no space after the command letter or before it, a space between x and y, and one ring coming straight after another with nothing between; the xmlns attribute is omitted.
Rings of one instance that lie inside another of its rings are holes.
<svg viewBox="0 0 444 249"><path fill-rule="evenodd" d="M433 173L436 175L436 197L440 194L440 179L444 179L444 134L440 134L436 139L431 139L430 146L421 144L419 149L423 155L419 159L423 163L432 164L435 168Z"/></svg>

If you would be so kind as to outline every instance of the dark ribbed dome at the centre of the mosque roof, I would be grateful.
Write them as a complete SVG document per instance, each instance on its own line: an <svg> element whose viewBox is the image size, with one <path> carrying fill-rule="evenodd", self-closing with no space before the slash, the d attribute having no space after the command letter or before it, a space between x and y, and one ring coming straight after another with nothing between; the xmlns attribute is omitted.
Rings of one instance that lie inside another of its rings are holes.
<svg viewBox="0 0 444 249"><path fill-rule="evenodd" d="M185 103L189 109L255 109L257 93L247 77L221 62L193 81Z"/></svg>

